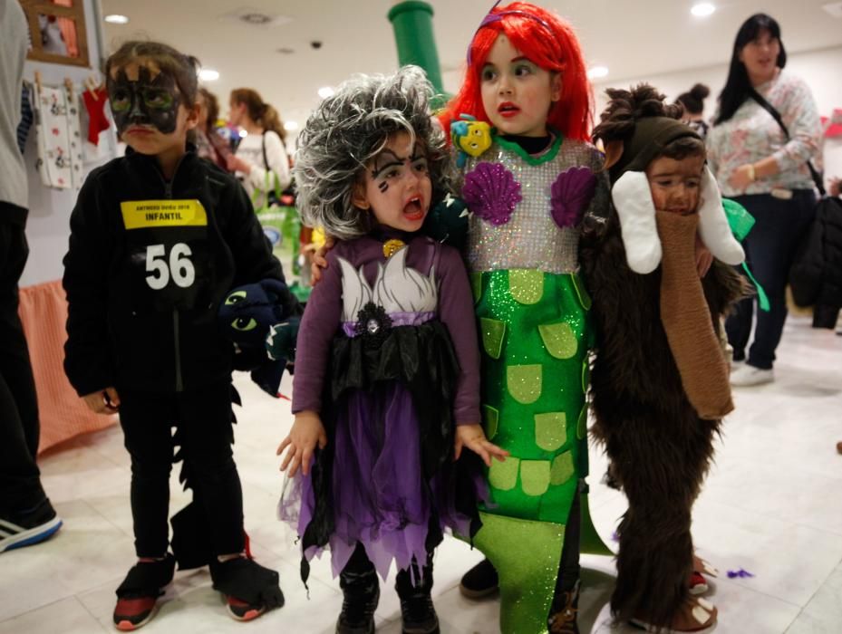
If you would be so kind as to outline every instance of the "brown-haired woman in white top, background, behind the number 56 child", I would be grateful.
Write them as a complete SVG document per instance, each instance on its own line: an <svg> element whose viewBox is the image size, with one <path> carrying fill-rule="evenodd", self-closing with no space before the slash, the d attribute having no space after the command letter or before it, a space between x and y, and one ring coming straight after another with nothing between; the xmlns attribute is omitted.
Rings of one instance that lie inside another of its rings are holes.
<svg viewBox="0 0 842 634"><path fill-rule="evenodd" d="M286 156L286 130L277 110L250 88L231 91L228 120L246 131L227 168L237 173L256 209L266 206L269 192L286 188L292 177Z"/></svg>

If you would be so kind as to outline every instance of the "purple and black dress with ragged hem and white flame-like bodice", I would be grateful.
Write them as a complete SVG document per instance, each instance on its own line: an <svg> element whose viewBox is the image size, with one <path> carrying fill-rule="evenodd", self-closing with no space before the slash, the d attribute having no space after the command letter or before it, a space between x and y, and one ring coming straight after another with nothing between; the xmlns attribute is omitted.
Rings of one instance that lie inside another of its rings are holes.
<svg viewBox="0 0 842 634"><path fill-rule="evenodd" d="M319 412L328 443L280 514L305 581L325 545L338 575L357 543L385 579L392 561L427 561L445 528L479 529L479 458L453 461L454 426L479 422L472 293L459 253L423 235L375 232L327 260L298 333L293 411Z"/></svg>

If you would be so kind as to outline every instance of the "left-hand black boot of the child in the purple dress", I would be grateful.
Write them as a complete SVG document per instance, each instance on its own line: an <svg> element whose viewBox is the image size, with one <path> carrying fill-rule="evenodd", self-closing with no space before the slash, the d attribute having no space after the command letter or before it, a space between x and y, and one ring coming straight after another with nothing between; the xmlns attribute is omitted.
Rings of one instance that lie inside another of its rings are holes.
<svg viewBox="0 0 842 634"><path fill-rule="evenodd" d="M342 588L342 612L336 622L336 634L373 634L374 610L380 600L380 582L365 550L357 545L351 560L339 573Z"/></svg>

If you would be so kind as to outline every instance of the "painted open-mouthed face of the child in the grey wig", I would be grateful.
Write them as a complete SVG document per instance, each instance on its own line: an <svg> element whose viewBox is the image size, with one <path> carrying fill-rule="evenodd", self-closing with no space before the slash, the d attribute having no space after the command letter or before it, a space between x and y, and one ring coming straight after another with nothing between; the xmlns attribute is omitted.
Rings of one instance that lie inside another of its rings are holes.
<svg viewBox="0 0 842 634"><path fill-rule="evenodd" d="M371 209L377 222L393 229L418 231L430 209L432 183L421 144L399 132L365 168L354 205Z"/></svg>

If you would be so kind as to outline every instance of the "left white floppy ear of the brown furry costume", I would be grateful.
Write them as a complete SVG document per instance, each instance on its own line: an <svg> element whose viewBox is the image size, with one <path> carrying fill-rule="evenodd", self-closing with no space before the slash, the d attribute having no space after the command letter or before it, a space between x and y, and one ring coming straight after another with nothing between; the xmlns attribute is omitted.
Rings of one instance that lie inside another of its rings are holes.
<svg viewBox="0 0 842 634"><path fill-rule="evenodd" d="M643 172L627 171L611 188L611 197L629 268L634 273L652 273L661 264L661 239L649 180Z"/></svg>

